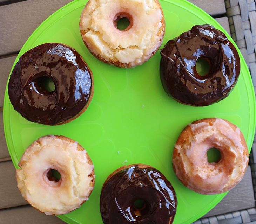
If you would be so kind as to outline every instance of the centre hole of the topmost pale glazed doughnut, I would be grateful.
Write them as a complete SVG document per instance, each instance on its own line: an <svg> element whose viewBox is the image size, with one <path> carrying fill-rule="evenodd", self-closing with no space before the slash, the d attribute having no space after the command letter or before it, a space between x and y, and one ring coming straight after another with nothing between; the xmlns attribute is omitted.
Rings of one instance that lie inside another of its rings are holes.
<svg viewBox="0 0 256 224"><path fill-rule="evenodd" d="M114 26L120 31L127 31L133 26L133 17L126 12L117 13L114 17Z"/></svg>

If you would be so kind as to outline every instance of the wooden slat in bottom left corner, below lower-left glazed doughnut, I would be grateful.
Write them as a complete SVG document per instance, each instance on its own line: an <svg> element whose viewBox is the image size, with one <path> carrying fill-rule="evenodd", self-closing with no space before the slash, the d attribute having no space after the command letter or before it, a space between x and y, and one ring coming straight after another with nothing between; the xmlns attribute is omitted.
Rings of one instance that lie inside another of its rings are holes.
<svg viewBox="0 0 256 224"><path fill-rule="evenodd" d="M0 223L6 224L65 224L55 216L47 216L29 205L0 210Z"/></svg>

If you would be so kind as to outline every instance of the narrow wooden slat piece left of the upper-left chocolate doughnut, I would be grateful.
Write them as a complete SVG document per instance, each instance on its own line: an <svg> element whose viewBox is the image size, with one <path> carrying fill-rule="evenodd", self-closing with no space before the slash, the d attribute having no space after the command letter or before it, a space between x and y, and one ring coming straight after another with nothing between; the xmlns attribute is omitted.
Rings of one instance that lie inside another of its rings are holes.
<svg viewBox="0 0 256 224"><path fill-rule="evenodd" d="M17 55L0 59L0 107L4 104L4 93L7 79L16 57Z"/></svg>

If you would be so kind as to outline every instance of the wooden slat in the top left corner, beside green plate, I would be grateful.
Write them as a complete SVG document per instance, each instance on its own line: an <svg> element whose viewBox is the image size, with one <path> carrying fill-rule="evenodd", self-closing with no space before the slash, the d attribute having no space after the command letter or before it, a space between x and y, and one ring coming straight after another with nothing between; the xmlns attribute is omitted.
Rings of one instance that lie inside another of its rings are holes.
<svg viewBox="0 0 256 224"><path fill-rule="evenodd" d="M19 51L29 35L71 0L28 0L0 6L0 55Z"/></svg>

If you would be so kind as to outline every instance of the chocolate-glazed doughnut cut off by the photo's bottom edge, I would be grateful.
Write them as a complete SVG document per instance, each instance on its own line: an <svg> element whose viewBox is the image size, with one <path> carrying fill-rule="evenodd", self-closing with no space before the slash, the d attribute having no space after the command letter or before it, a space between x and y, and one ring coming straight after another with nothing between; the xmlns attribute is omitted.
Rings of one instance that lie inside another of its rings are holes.
<svg viewBox="0 0 256 224"><path fill-rule="evenodd" d="M140 200L140 204L136 204ZM173 187L157 169L133 164L110 174L100 195L104 224L171 224L177 198Z"/></svg>

